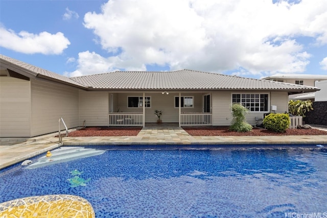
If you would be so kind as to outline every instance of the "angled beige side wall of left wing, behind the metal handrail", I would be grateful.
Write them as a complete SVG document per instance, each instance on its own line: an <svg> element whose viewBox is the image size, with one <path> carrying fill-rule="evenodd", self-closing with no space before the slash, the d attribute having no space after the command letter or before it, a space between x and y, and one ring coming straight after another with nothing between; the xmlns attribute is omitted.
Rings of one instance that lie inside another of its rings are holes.
<svg viewBox="0 0 327 218"><path fill-rule="evenodd" d="M31 81L32 135L58 131L58 120L67 128L78 124L78 89L49 81ZM63 128L63 126L62 126Z"/></svg>

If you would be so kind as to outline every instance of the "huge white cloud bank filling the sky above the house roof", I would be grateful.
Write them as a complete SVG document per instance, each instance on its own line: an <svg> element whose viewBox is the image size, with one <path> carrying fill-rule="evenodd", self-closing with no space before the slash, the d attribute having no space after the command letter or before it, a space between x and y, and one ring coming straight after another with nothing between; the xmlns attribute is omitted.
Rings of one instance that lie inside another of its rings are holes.
<svg viewBox="0 0 327 218"><path fill-rule="evenodd" d="M109 1L101 13L86 13L84 26L114 56L85 54L112 69L167 64L217 72L242 67L248 74L303 72L311 55L296 37L326 44L325 23L327 1L321 0ZM80 74L96 73L79 66Z"/></svg>

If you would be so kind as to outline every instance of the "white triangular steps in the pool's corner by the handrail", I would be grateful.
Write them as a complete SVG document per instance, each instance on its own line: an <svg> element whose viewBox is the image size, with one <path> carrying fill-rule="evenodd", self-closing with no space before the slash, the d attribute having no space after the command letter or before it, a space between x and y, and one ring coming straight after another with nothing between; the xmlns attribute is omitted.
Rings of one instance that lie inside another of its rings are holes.
<svg viewBox="0 0 327 218"><path fill-rule="evenodd" d="M41 166L67 162L84 157L91 157L103 154L104 150L85 149L83 147L61 147L51 152L51 157L40 157L37 162L28 165L27 168L33 169Z"/></svg>

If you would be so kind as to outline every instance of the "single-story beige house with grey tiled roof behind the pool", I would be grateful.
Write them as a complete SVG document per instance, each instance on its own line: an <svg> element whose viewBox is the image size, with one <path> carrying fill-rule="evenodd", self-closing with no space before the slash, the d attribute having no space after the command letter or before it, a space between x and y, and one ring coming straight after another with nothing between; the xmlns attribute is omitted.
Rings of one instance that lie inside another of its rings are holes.
<svg viewBox="0 0 327 218"><path fill-rule="evenodd" d="M79 126L229 126L230 105L242 103L256 124L264 113L288 111L288 95L318 88L181 69L114 71L68 78L0 55L0 137Z"/></svg>

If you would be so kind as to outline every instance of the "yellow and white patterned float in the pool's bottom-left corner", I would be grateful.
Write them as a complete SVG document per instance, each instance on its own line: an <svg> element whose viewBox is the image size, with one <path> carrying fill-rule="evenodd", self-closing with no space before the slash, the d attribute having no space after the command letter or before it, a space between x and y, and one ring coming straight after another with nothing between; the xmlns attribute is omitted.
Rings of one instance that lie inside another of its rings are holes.
<svg viewBox="0 0 327 218"><path fill-rule="evenodd" d="M92 205L79 196L46 195L15 199L0 204L0 217L96 217Z"/></svg>

